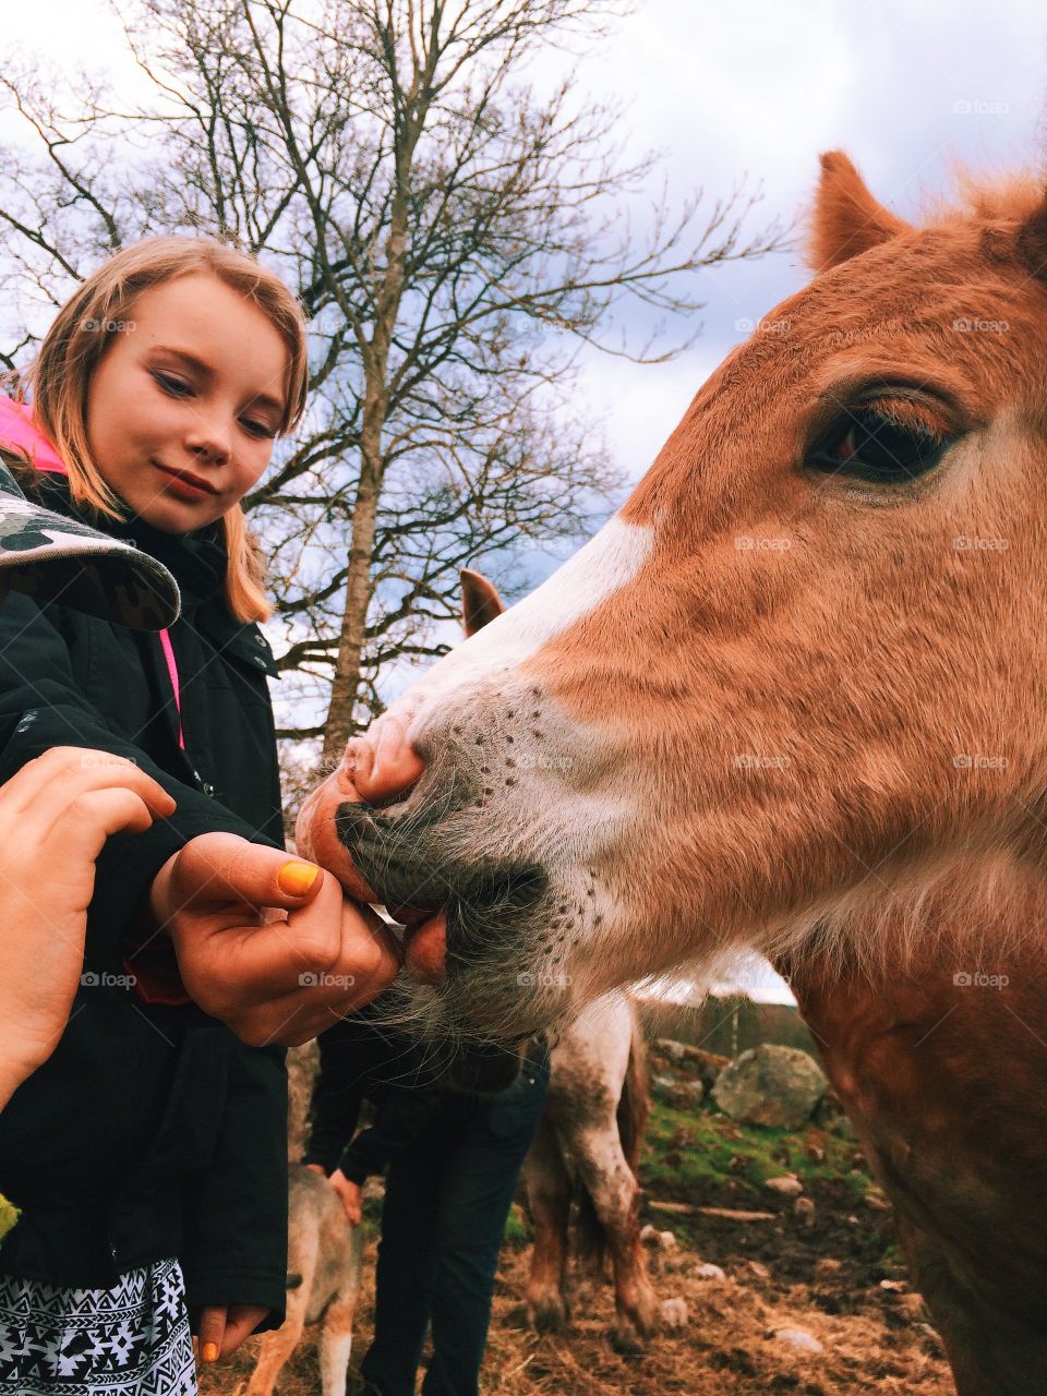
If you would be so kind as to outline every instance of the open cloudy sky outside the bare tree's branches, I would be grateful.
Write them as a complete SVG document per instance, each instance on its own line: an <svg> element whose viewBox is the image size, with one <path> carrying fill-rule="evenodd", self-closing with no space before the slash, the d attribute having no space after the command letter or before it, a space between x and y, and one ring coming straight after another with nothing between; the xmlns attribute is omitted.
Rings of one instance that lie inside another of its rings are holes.
<svg viewBox="0 0 1047 1396"><path fill-rule="evenodd" d="M49 61L110 70L121 35L103 0L4 7L4 42ZM794 219L818 152L845 148L902 216L949 187L951 169L1039 166L1047 142L1047 15L1033 0L639 0L578 68L578 92L625 103L623 140L663 152L670 193L759 181L757 221ZM15 128L0 121L0 140ZM642 219L644 208L637 216ZM638 367L588 355L582 388L631 477L656 455L745 322L803 285L783 254L704 274L702 338L681 359ZM773 986L758 988L778 997Z"/></svg>

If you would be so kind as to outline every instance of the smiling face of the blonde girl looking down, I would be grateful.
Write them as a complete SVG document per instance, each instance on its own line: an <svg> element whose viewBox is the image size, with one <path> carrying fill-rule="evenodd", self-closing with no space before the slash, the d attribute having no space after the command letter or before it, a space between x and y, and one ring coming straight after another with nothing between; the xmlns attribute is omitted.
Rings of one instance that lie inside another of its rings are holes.
<svg viewBox="0 0 1047 1396"><path fill-rule="evenodd" d="M269 463L290 356L267 315L208 272L151 286L130 314L88 387L91 455L134 514L188 533Z"/></svg>

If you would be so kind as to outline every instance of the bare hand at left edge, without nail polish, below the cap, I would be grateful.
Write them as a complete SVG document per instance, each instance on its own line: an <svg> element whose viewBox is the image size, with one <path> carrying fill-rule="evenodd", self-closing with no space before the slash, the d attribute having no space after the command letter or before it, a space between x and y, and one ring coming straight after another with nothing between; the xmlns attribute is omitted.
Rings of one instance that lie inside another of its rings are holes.
<svg viewBox="0 0 1047 1396"><path fill-rule="evenodd" d="M105 840L173 810L133 762L81 747L53 747L0 787L0 1107L68 1020Z"/></svg>

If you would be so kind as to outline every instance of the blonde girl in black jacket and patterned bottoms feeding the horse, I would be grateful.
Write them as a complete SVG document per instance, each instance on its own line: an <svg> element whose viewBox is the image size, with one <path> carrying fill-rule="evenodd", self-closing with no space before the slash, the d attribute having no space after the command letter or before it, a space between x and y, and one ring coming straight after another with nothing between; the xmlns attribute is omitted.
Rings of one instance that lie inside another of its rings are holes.
<svg viewBox="0 0 1047 1396"><path fill-rule="evenodd" d="M159 637L61 597L0 607L0 780L92 747L177 805L102 849L68 1026L0 1115L0 1192L21 1209L0 1244L3 1393L194 1392L187 1311L204 1360L282 1321L283 1054L218 1018L253 1043L303 1040L398 967L332 879L278 852L275 666L239 501L299 420L306 371L276 276L161 237L63 307L32 408L0 399L24 487L133 539L183 606Z"/></svg>

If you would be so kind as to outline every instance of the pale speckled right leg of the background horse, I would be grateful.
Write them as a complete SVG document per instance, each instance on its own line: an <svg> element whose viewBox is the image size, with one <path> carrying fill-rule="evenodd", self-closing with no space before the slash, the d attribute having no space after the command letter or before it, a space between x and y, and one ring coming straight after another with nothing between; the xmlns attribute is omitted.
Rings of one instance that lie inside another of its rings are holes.
<svg viewBox="0 0 1047 1396"><path fill-rule="evenodd" d="M659 1321L659 1304L639 1242L639 1185L621 1152L614 1120L571 1139L578 1173L603 1227L614 1269L618 1333L627 1325L646 1336Z"/></svg>

